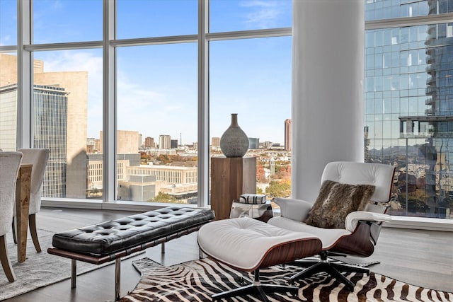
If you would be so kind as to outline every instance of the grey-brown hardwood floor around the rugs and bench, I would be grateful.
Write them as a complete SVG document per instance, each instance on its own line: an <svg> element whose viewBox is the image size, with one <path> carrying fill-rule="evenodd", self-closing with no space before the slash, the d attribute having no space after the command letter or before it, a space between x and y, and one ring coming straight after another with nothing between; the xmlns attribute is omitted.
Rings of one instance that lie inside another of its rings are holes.
<svg viewBox="0 0 453 302"><path fill-rule="evenodd" d="M37 224L38 228L57 232L130 214L132 212L42 208L37 214ZM198 259L196 234L169 241L166 243L164 255L161 255L161 247L156 246L149 248L145 254L123 260L122 296L134 289L140 279L139 273L132 267L132 260L143 257L149 257L166 266L196 260ZM342 260L350 263L380 261L380 264L370 267L373 272L410 284L453 292L453 232L383 228L379 243L371 257L348 257ZM76 289L71 289L71 281L68 279L6 301L113 301L114 291L115 266L108 265L78 276Z"/></svg>

